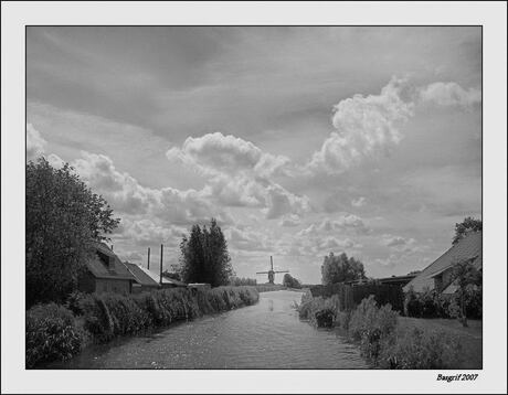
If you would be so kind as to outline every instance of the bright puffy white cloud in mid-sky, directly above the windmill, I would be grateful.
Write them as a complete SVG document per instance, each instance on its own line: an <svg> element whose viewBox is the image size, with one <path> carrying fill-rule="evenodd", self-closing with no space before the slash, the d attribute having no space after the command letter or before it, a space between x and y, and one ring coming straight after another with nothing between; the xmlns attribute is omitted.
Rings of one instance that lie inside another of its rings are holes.
<svg viewBox="0 0 508 395"><path fill-rule="evenodd" d="M307 196L298 196L271 179L288 174L289 159L263 152L251 141L208 134L189 137L181 149L173 147L166 156L209 175L202 194L218 204L260 207L268 220L310 211Z"/></svg>

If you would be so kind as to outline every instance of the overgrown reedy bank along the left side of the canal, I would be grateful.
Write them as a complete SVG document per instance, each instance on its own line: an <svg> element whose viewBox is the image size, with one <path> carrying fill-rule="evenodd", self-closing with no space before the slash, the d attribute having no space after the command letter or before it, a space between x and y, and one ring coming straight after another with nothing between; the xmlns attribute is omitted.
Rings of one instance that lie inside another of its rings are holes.
<svg viewBox="0 0 508 395"><path fill-rule="evenodd" d="M75 293L65 307L39 305L27 311L27 367L66 360L91 343L254 305L258 298L254 287L218 287L194 293L187 288L133 296Z"/></svg>

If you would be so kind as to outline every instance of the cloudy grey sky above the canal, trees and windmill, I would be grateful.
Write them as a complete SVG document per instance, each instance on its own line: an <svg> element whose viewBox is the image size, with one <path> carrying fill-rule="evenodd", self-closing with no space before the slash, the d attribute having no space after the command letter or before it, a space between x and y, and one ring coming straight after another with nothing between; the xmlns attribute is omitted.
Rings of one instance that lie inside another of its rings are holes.
<svg viewBox="0 0 508 395"><path fill-rule="evenodd" d="M29 26L27 159L70 162L120 258L213 216L237 276L424 268L481 215L480 28ZM157 263L157 264L156 264ZM276 276L276 282L282 280Z"/></svg>

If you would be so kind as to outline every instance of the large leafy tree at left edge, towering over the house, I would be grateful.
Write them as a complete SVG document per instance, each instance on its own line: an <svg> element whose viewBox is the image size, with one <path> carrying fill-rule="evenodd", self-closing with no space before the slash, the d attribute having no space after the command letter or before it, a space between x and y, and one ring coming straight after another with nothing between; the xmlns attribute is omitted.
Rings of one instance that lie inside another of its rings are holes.
<svg viewBox="0 0 508 395"><path fill-rule="evenodd" d="M62 301L77 287L93 243L107 239L119 223L74 169L54 169L44 159L27 163L27 307Z"/></svg>

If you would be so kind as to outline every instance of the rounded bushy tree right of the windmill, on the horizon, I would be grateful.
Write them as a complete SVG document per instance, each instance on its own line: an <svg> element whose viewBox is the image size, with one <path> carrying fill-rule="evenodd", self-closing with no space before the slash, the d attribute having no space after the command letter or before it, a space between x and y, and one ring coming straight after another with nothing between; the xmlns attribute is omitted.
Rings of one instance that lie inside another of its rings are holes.
<svg viewBox="0 0 508 395"><path fill-rule="evenodd" d="M346 253L340 255L330 253L321 265L321 282L325 286L364 278L363 264L353 257L348 258Z"/></svg>

